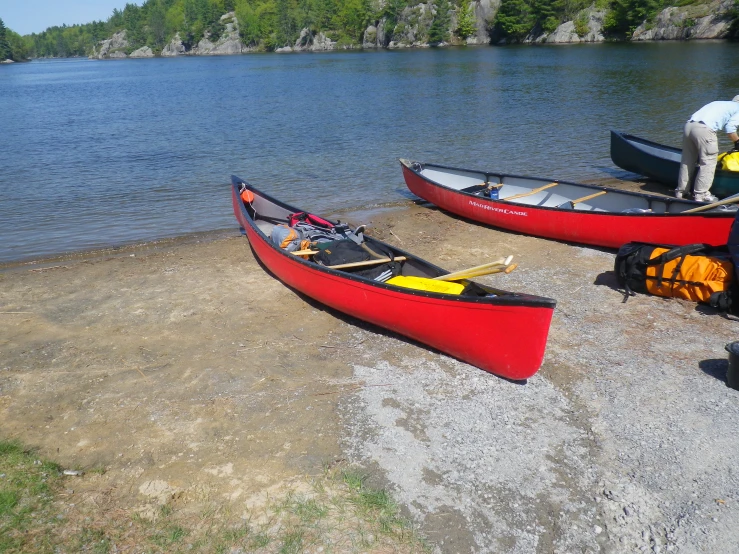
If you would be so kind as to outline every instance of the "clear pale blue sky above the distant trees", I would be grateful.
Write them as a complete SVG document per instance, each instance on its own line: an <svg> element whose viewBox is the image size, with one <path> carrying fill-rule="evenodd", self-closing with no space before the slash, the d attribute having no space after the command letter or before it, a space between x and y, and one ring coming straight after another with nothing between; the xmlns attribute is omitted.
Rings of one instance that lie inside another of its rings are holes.
<svg viewBox="0 0 739 554"><path fill-rule="evenodd" d="M115 8L140 6L142 0L0 0L0 19L20 35L40 33L55 25L106 21Z"/></svg>

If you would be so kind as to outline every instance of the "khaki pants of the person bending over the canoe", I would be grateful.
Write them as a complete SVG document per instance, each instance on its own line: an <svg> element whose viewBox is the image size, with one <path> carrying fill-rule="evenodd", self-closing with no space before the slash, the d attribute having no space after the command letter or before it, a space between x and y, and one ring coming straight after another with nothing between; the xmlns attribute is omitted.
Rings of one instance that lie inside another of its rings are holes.
<svg viewBox="0 0 739 554"><path fill-rule="evenodd" d="M695 175L693 193L708 192L713 184L718 157L718 137L716 131L697 121L688 121L683 132L683 155L680 159L680 174L677 178L677 190L686 192Z"/></svg>

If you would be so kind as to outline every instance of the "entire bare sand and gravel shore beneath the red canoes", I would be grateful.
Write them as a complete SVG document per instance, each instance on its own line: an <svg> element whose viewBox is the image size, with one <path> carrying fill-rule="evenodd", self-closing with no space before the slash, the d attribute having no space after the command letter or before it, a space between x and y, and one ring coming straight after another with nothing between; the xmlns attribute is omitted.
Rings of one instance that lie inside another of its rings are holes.
<svg viewBox="0 0 739 554"><path fill-rule="evenodd" d="M348 459L440 552L736 549L735 320L624 303L612 251L412 202L341 218L450 270L513 254L480 280L558 300L540 372L510 383L327 310L234 227L5 267L0 433L104 467L70 499L101 510L248 512Z"/></svg>

